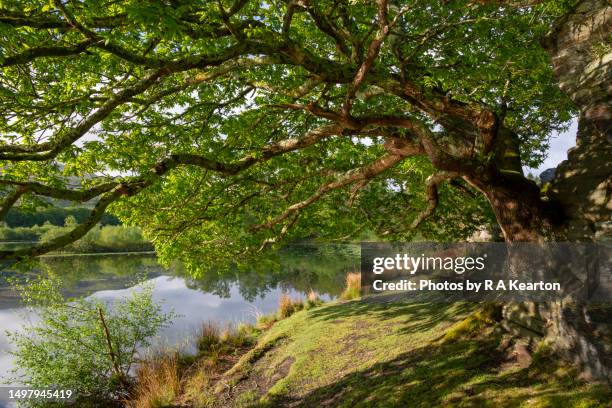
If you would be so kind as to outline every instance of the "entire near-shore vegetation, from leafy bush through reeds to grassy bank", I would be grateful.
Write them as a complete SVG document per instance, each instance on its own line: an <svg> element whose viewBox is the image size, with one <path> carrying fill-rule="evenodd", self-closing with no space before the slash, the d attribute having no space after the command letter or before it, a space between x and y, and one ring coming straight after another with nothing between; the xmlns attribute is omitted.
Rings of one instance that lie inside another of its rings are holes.
<svg viewBox="0 0 612 408"><path fill-rule="evenodd" d="M346 281L348 298L355 275ZM205 322L190 338L194 353L146 349L173 316L161 313L150 288L113 307L94 299L68 307L54 280L20 288L47 311L13 335L25 383L67 382L83 407L598 408L612 399L609 387L580 379L546 344L504 334L495 305L284 295L255 324Z"/></svg>

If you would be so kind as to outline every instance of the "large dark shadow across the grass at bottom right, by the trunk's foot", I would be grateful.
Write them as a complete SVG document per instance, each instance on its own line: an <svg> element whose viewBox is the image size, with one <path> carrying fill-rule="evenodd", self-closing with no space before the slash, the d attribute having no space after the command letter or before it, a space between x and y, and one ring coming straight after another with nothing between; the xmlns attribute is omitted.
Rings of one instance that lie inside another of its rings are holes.
<svg viewBox="0 0 612 408"><path fill-rule="evenodd" d="M497 339L431 345L340 378L299 400L273 401L291 407L596 407L609 406L609 388L578 388L571 377L553 381L546 367L497 373ZM554 364L551 364L554 366ZM528 389L526 387L529 387ZM534 398L539 404L533 404Z"/></svg>

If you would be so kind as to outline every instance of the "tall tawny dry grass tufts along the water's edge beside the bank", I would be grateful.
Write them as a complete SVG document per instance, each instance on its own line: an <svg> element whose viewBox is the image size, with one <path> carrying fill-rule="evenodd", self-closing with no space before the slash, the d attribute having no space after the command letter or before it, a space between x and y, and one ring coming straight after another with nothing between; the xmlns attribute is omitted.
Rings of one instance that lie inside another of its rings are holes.
<svg viewBox="0 0 612 408"><path fill-rule="evenodd" d="M239 324L221 327L205 322L200 327L195 345L197 355L181 355L176 350L163 350L146 358L138 367L130 408L163 408L188 406L207 408L224 406L219 398L228 383L237 383L248 373L245 367L257 361L281 337L257 343L262 330L269 329L294 313L320 306L323 302L311 291L307 300L283 295L278 311L258 319L257 326ZM259 395L245 392L233 401L236 406L250 406Z"/></svg>

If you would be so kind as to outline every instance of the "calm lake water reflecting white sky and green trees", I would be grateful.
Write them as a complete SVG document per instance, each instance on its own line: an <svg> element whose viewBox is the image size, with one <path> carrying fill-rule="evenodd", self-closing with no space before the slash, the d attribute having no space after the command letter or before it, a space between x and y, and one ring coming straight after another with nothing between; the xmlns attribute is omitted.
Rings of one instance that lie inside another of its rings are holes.
<svg viewBox="0 0 612 408"><path fill-rule="evenodd" d="M36 320L22 307L7 279L49 270L61 277L67 296L95 296L115 300L125 297L138 277L154 285L154 298L166 311L180 315L159 333L154 343L183 344L204 321L253 322L260 313L276 310L283 293L304 297L311 289L323 298L337 296L346 273L359 267L353 246L293 246L278 252L270 262L249 270L213 271L194 279L179 263L165 269L153 255L95 255L43 258L40 265L0 271L0 377L12 368L11 345L6 331L19 330ZM4 404L0 400L0 407Z"/></svg>

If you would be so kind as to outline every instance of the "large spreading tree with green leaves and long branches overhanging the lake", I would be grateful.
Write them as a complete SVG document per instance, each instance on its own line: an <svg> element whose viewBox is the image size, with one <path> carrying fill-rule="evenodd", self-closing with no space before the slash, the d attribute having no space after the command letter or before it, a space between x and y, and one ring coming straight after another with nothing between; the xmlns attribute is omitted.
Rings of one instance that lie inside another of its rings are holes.
<svg viewBox="0 0 612 408"><path fill-rule="evenodd" d="M66 235L0 259L66 245L108 208L194 271L364 228L606 233L603 0L4 4L0 216L39 197L98 201ZM575 114L578 149L542 197L522 166ZM104 176L66 181L85 174Z"/></svg>

